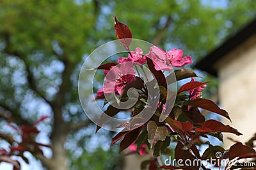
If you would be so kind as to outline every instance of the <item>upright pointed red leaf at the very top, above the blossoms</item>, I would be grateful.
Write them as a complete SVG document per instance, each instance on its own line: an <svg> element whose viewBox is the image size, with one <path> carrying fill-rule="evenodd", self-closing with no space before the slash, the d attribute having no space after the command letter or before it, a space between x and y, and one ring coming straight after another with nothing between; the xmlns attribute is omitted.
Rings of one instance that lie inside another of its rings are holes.
<svg viewBox="0 0 256 170"><path fill-rule="evenodd" d="M131 40L132 33L131 33L129 27L127 27L122 22L118 22L118 20L114 16L113 16L113 19L115 21L116 37L122 43L122 45L125 47L125 49L129 50L129 45L132 42L132 40Z"/></svg>

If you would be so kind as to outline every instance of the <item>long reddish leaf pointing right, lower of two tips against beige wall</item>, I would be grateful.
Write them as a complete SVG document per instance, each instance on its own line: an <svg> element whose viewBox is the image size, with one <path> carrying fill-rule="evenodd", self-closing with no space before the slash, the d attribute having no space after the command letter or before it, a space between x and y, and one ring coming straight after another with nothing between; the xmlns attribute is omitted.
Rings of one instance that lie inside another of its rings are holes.
<svg viewBox="0 0 256 170"><path fill-rule="evenodd" d="M196 128L195 132L209 133L209 132L229 132L236 135L241 135L235 128L230 127L229 125L224 125L220 121L216 120L207 120L202 123L201 128Z"/></svg>

